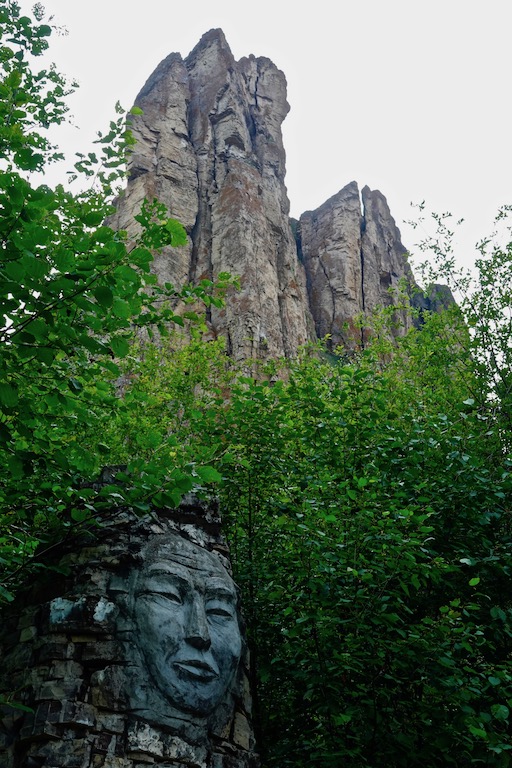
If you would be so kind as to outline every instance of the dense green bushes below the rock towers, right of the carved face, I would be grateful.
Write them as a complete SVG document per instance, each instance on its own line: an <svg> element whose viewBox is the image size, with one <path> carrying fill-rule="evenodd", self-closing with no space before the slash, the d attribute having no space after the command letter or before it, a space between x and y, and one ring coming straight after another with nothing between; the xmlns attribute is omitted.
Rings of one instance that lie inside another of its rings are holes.
<svg viewBox="0 0 512 768"><path fill-rule="evenodd" d="M258 379L148 350L127 388L119 434L223 477L265 765L510 764L511 466L460 312L424 320Z"/></svg>

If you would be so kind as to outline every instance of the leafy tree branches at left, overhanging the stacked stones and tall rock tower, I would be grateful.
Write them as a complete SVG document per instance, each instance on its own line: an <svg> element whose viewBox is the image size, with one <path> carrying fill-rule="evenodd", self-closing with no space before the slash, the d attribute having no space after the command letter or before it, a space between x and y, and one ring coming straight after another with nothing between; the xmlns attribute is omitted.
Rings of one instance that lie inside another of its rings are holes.
<svg viewBox="0 0 512 768"><path fill-rule="evenodd" d="M32 183L30 172L58 157L44 132L65 118L69 89L53 67L34 68L52 31L40 7L31 19L2 0L0 31L0 599L9 600L21 569L37 567L34 554L77 524L126 503L175 504L192 487L190 473L136 453L122 488L93 481L112 456L102 427L129 412L116 381L136 334L162 338L183 325L178 300L222 299L210 281L156 283L154 251L187 242L157 201L144 203L130 240L103 223L133 144L119 107L98 151L78 155L84 191ZM220 288L229 282L222 276Z"/></svg>

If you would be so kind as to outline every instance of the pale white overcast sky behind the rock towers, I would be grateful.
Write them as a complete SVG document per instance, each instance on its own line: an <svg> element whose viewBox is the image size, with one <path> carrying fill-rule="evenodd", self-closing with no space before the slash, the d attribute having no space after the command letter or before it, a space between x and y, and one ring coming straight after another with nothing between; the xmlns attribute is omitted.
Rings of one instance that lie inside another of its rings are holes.
<svg viewBox="0 0 512 768"><path fill-rule="evenodd" d="M267 56L288 81L283 125L291 213L352 180L387 197L466 219L459 256L512 203L512 0L43 0L67 36L51 58L80 82L70 99L73 151L130 107L171 51L186 56L221 27L235 57ZM29 7L29 0L21 0Z"/></svg>

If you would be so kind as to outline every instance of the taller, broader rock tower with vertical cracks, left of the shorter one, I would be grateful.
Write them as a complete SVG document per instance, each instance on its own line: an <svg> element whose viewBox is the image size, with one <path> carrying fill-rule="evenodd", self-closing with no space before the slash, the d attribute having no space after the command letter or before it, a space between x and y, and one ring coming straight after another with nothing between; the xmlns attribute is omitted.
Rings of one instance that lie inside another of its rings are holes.
<svg viewBox="0 0 512 768"><path fill-rule="evenodd" d="M158 197L190 234L188 250L157 258L160 279L239 275L241 290L212 309L214 333L238 359L294 354L312 325L284 186L283 73L265 58L236 62L212 30L186 59L165 59L136 104L143 115L116 225L127 228L143 198Z"/></svg>

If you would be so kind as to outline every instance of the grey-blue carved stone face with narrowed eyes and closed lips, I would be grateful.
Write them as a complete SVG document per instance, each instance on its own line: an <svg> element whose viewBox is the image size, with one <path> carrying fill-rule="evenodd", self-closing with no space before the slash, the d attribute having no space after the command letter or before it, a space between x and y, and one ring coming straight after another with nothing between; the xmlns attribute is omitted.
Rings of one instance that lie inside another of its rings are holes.
<svg viewBox="0 0 512 768"><path fill-rule="evenodd" d="M134 597L137 642L154 683L177 709L208 716L240 660L233 580L215 554L170 535L147 552Z"/></svg>

